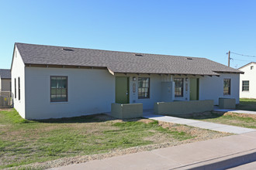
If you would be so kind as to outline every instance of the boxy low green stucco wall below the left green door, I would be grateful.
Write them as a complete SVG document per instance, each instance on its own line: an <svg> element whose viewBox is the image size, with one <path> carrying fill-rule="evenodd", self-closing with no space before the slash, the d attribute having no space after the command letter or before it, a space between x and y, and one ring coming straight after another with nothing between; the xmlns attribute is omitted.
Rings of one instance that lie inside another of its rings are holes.
<svg viewBox="0 0 256 170"><path fill-rule="evenodd" d="M119 119L143 116L143 104L111 104L111 115Z"/></svg>

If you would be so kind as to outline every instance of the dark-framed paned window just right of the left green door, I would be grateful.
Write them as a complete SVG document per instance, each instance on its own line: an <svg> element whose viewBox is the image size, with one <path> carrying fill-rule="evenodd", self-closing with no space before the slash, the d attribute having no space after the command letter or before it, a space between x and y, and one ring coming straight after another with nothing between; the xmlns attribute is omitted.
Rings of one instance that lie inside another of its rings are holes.
<svg viewBox="0 0 256 170"><path fill-rule="evenodd" d="M138 98L146 99L150 97L150 78L139 77L138 78Z"/></svg>

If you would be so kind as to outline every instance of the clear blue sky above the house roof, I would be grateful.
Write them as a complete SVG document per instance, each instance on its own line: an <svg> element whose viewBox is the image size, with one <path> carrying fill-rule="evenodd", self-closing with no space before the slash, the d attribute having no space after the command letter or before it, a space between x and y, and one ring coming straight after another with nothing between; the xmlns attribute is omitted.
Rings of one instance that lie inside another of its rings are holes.
<svg viewBox="0 0 256 170"><path fill-rule="evenodd" d="M0 0L0 68L10 68L14 42L198 56L227 64L228 50L256 56L255 8L254 0ZM256 62L231 58L232 67Z"/></svg>

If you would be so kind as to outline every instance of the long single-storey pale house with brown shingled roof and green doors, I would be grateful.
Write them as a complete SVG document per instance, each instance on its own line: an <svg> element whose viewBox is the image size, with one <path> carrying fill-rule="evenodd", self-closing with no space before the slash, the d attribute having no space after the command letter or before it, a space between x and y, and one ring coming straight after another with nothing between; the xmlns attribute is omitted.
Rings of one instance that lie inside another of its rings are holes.
<svg viewBox="0 0 256 170"><path fill-rule="evenodd" d="M239 74L206 58L16 43L14 107L26 119L109 112L112 103L235 98Z"/></svg>

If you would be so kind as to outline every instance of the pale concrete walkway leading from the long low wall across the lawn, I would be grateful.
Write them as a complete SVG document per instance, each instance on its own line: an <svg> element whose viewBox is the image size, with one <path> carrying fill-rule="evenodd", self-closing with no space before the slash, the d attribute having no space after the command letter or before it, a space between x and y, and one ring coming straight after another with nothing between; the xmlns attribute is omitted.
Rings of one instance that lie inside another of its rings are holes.
<svg viewBox="0 0 256 170"><path fill-rule="evenodd" d="M144 117L153 119L156 121L165 121L173 124L185 124L192 127L204 128L212 131L221 131L221 132L227 132L227 133L233 133L233 134L244 134L251 131L256 131L255 129L251 129L251 128L240 128L237 126L231 126L227 124L216 124L216 123L211 123L206 121L196 121L192 119L152 114L152 110L145 110Z"/></svg>

